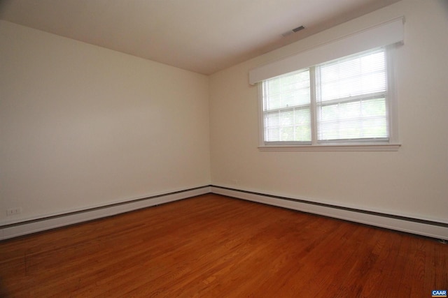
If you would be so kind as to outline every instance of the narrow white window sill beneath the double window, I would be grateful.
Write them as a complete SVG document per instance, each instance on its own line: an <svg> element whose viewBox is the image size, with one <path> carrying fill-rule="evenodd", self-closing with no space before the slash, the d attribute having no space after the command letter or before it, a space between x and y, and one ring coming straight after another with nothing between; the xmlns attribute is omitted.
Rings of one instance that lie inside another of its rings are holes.
<svg viewBox="0 0 448 298"><path fill-rule="evenodd" d="M398 151L401 144L323 144L259 146L260 151Z"/></svg>

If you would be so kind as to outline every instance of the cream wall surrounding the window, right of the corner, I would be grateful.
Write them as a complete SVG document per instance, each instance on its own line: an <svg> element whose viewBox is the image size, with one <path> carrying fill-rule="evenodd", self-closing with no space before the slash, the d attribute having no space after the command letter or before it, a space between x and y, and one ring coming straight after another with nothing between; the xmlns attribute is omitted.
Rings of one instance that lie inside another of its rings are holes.
<svg viewBox="0 0 448 298"><path fill-rule="evenodd" d="M402 15L398 151L258 151L249 70ZM212 184L447 223L447 28L447 1L404 0L211 75Z"/></svg>

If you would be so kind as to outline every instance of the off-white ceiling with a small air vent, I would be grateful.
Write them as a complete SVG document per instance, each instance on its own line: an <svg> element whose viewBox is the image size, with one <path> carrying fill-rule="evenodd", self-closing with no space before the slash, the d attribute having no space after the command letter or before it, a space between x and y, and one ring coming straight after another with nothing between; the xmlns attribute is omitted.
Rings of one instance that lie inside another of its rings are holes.
<svg viewBox="0 0 448 298"><path fill-rule="evenodd" d="M0 0L0 19L210 75L397 1Z"/></svg>

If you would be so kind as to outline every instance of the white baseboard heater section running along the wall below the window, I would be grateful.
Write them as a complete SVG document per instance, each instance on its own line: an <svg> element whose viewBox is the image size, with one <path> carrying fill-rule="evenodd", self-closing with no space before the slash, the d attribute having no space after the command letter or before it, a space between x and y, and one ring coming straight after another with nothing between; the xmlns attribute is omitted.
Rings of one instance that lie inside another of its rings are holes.
<svg viewBox="0 0 448 298"><path fill-rule="evenodd" d="M391 230L398 230L448 240L448 223L426 221L417 218L407 218L405 216L379 214L378 212L330 206L328 204L306 202L304 200L286 199L281 197L276 198L274 195L264 195L262 193L254 193L251 191L240 191L221 186L211 186L211 193L227 195L232 198L239 198L262 204L274 205L277 207L294 209L297 211L304 211L311 214L344 219L346 221L353 221L356 223L374 225Z"/></svg>

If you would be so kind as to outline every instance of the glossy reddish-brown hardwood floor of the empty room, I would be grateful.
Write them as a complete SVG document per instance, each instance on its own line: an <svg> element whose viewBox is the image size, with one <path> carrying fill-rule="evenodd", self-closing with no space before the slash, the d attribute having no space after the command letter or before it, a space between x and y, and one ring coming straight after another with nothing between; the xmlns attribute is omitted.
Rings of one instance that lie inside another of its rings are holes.
<svg viewBox="0 0 448 298"><path fill-rule="evenodd" d="M431 297L435 239L221 195L0 242L1 297Z"/></svg>

